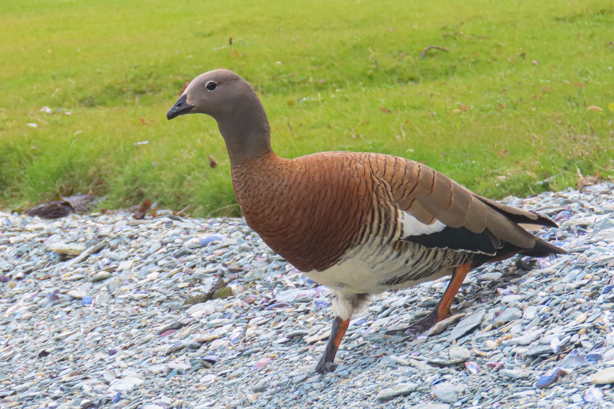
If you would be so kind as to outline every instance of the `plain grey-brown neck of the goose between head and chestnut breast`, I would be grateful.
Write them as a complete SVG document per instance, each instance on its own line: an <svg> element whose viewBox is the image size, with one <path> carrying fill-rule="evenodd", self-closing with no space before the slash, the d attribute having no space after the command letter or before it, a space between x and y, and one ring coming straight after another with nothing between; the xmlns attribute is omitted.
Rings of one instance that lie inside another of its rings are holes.
<svg viewBox="0 0 614 409"><path fill-rule="evenodd" d="M271 128L255 93L244 96L232 112L220 115L216 120L226 142L231 166L271 151Z"/></svg>

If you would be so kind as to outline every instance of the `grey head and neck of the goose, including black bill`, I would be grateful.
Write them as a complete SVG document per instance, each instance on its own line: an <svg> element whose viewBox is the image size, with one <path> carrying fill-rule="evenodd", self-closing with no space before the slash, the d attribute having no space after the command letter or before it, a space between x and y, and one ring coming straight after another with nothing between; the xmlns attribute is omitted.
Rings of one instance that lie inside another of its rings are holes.
<svg viewBox="0 0 614 409"><path fill-rule="evenodd" d="M271 150L271 130L260 99L246 80L217 69L194 78L166 113L173 118L205 113L217 121L232 166Z"/></svg>

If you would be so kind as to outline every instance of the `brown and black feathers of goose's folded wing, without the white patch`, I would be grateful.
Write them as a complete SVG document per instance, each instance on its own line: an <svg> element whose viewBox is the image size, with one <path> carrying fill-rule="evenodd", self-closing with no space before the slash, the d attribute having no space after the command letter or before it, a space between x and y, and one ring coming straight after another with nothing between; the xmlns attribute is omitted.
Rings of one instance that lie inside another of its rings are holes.
<svg viewBox="0 0 614 409"><path fill-rule="evenodd" d="M394 166L391 166L394 164ZM556 225L535 213L477 196L440 172L408 159L377 160L375 176L385 178L398 210L419 223L445 224L441 231L423 227L429 234L409 235L404 240L428 247L494 254L506 243L522 249L535 247L537 238L518 223ZM384 168L391 166L392 169Z"/></svg>

